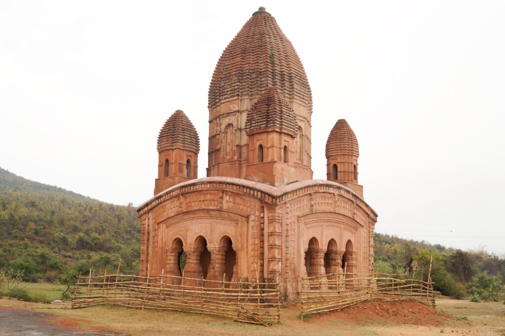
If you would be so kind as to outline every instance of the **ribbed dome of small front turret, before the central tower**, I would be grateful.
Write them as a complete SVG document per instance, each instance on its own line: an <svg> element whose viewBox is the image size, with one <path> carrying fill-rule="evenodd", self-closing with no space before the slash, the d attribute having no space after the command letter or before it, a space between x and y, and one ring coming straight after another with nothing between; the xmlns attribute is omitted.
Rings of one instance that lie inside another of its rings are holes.
<svg viewBox="0 0 505 336"><path fill-rule="evenodd" d="M295 135L298 122L294 111L276 87L263 93L252 105L245 120L245 131L251 132L268 128L278 128Z"/></svg>

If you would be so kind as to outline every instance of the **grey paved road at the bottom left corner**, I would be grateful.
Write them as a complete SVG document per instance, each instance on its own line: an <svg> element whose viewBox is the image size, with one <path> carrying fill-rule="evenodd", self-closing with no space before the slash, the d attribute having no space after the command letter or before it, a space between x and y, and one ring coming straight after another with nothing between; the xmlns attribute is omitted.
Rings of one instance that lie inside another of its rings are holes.
<svg viewBox="0 0 505 336"><path fill-rule="evenodd" d="M49 324L53 315L23 308L0 307L0 335L96 335Z"/></svg>

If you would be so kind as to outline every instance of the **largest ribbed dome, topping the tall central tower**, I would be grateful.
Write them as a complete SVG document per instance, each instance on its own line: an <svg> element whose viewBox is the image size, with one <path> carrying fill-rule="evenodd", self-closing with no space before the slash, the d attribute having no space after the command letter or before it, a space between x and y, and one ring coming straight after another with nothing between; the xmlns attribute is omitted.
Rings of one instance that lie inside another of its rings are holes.
<svg viewBox="0 0 505 336"><path fill-rule="evenodd" d="M312 113L304 66L275 18L260 8L223 51L209 87L209 108L222 99L260 95L271 86L305 101Z"/></svg>

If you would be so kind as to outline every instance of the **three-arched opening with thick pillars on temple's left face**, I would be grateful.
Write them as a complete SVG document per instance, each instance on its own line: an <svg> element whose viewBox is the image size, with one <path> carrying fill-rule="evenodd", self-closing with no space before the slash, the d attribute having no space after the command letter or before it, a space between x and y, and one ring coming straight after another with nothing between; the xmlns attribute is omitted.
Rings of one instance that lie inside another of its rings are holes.
<svg viewBox="0 0 505 336"><path fill-rule="evenodd" d="M175 238L171 248L167 249L166 269L167 275L182 276L201 279L222 281L223 275L226 282L236 277L237 253L233 248L230 237L224 236L217 246L209 246L207 239L198 236L193 246L184 246L182 239ZM174 283L180 279L172 278ZM195 281L189 281L189 283ZM185 282L185 284L188 284ZM200 284L194 284L200 285ZM206 286L213 287L213 283Z"/></svg>

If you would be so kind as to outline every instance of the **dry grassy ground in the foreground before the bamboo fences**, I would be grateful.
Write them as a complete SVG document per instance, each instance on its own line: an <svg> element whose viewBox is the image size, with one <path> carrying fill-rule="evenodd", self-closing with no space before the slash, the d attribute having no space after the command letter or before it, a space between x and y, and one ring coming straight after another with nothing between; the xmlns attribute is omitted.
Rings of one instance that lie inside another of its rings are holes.
<svg viewBox="0 0 505 336"><path fill-rule="evenodd" d="M44 290L44 289L43 289ZM473 303L466 300L437 299L437 309L460 318L447 319L443 325L410 324L409 319L359 323L323 314L301 321L299 306L288 305L281 311L281 323L270 328L232 322L230 319L171 311L148 311L117 306L70 308L70 303L49 305L17 300L0 300L0 306L24 307L54 314L52 323L72 325L84 330L103 333L113 330L132 335L154 334L223 334L223 335L426 335L426 334L505 334L505 305L499 302ZM57 308L57 309L44 309ZM355 308L358 309L358 308ZM363 309L363 308L361 308ZM486 316L492 315L492 316ZM462 317L464 316L464 317Z"/></svg>

